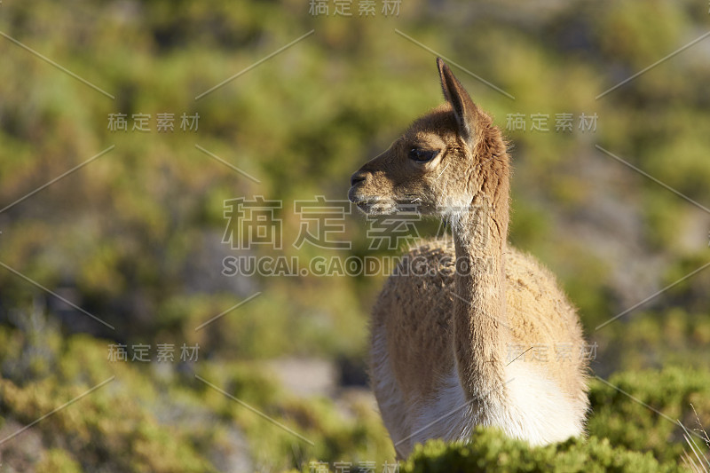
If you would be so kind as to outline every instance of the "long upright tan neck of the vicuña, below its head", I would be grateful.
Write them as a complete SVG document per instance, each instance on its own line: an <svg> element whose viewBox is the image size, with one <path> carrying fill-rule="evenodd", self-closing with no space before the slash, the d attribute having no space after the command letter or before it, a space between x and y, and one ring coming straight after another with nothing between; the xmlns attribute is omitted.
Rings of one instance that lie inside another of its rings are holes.
<svg viewBox="0 0 710 473"><path fill-rule="evenodd" d="M482 169L482 184L454 225L454 351L469 398L505 398L505 248L509 221L508 156ZM466 267L468 266L468 267Z"/></svg>

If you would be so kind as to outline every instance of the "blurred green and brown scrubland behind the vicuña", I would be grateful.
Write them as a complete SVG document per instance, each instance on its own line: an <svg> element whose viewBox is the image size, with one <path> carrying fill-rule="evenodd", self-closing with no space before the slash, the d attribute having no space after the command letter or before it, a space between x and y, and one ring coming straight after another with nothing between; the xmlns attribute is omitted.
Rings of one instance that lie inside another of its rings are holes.
<svg viewBox="0 0 710 473"><path fill-rule="evenodd" d="M224 201L238 197L284 202L284 248L249 255L343 255L290 244L300 228L293 202L345 199L351 172L442 101L434 54L396 29L512 95L454 67L503 130L525 115L525 130L506 130L510 240L579 306L597 346L594 373L671 420L710 425L710 271L695 272L710 262L710 39L597 99L710 30L708 5L382 8L378 0L361 17L355 0L343 17L333 2L328 15L310 14L306 0L0 4L0 471L307 471L311 461L332 470L373 461L380 471L394 461L365 372L383 277L221 272L226 256L244 254L223 243ZM156 130L162 113L175 115L174 131ZM129 130L109 130L109 114L127 114ZM130 130L132 114L151 114L151 130ZM181 130L182 114L199 114L198 129ZM535 114L548 115L548 131L533 130ZM557 114L572 114L571 131L556 131ZM582 114L596 114L594 130L580 129ZM363 217L347 217L346 256L398 254L370 250L366 230ZM151 362L130 360L139 343L151 346ZM174 362L156 361L159 343L175 345ZM184 343L199 344L197 360L179 359ZM112 344L126 345L129 361L111 361ZM680 427L604 382L593 381L592 398L589 458L617 458L604 450L611 442L670 469L689 451ZM517 448L503 444L481 442ZM406 468L437 470L427 465Z"/></svg>

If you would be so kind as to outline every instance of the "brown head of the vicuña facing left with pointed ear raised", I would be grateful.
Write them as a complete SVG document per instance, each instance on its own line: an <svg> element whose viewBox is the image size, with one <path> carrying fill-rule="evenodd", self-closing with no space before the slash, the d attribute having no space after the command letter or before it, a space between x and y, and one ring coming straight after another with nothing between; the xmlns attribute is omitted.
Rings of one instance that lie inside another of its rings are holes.
<svg viewBox="0 0 710 473"><path fill-rule="evenodd" d="M467 208L477 195L498 192L490 188L491 170L495 183L504 179L507 185L508 156L500 131L444 61L437 59L437 65L446 103L414 121L351 177L348 197L367 214L416 206L422 214L454 217L453 209Z"/></svg>

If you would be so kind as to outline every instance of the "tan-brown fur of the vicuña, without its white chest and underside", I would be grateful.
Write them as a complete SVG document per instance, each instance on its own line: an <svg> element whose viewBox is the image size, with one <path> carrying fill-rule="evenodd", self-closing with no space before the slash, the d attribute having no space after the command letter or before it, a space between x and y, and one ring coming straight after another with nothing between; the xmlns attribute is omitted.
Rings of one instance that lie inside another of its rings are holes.
<svg viewBox="0 0 710 473"><path fill-rule="evenodd" d="M400 438L411 433L414 414L435 402L452 370L480 412L508 412L517 402L506 380L511 345L548 347L546 362L513 363L551 380L583 419L587 365L579 356L584 343L579 318L554 276L532 256L509 247L506 143L440 59L438 67L446 104L416 120L351 179L349 197L367 213L391 213L399 204L416 202L422 213L447 218L454 229L453 242L430 241L409 254L441 271L393 275L375 304L371 365L377 368L373 383L385 423ZM417 162L413 148L438 154ZM472 271L455 272L454 258ZM375 352L378 336L386 339L385 353ZM557 359L559 343L572 343L572 359ZM387 398L392 392L376 387L386 381L375 379L383 367L402 397L396 408ZM400 456L408 451L398 447Z"/></svg>

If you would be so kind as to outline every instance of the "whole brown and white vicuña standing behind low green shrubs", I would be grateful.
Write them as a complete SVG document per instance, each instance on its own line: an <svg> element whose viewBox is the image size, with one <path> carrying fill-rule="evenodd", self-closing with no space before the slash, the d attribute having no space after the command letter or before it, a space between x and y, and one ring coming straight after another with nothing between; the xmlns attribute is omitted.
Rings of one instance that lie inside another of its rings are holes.
<svg viewBox="0 0 710 473"><path fill-rule="evenodd" d="M584 339L555 277L508 244L510 160L501 131L437 59L446 103L351 177L367 214L414 202L453 239L403 257L371 320L370 377L399 458L478 424L532 445L584 432Z"/></svg>

